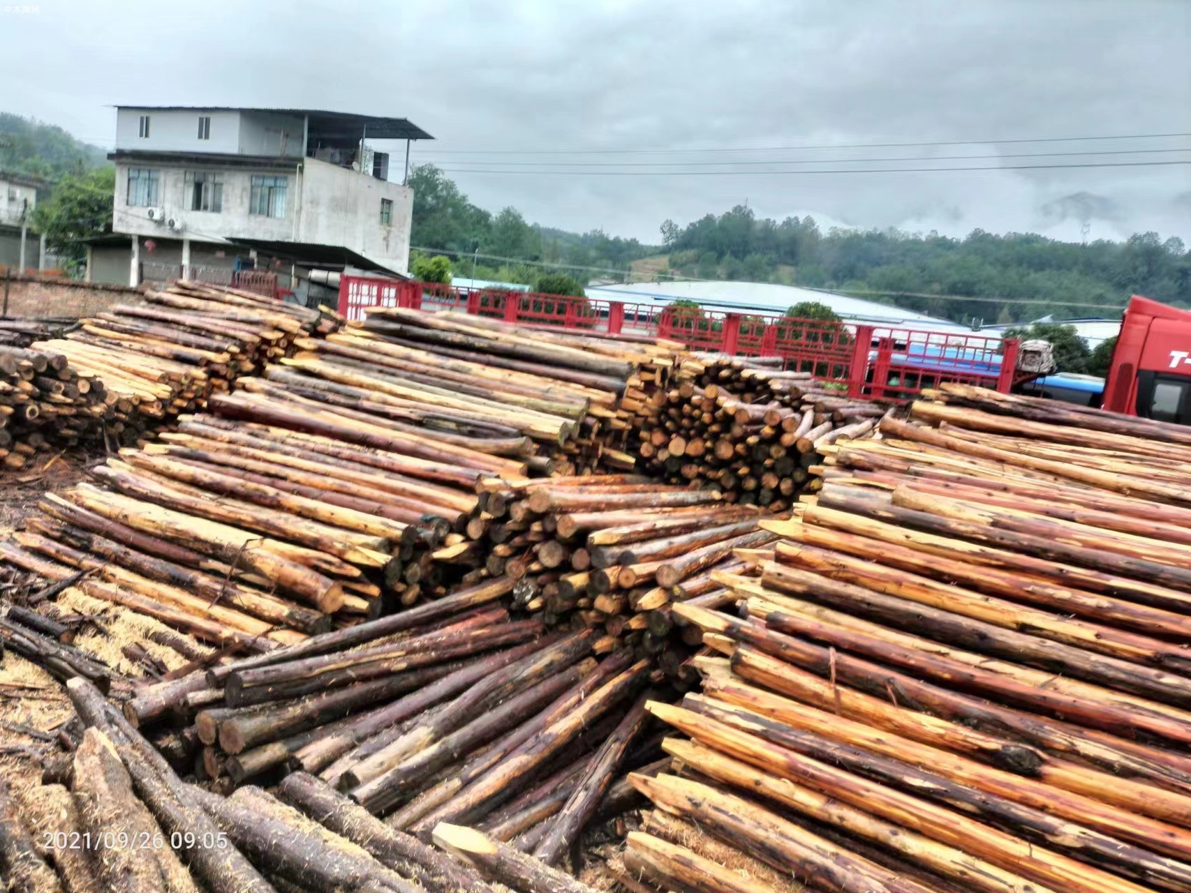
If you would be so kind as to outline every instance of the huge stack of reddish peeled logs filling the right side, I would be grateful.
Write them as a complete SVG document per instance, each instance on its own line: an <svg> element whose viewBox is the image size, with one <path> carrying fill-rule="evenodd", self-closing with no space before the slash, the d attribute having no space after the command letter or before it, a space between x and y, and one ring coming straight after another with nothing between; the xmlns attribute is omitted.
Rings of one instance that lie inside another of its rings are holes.
<svg viewBox="0 0 1191 893"><path fill-rule="evenodd" d="M716 839L649 819L626 863L663 889L717 888L687 878L724 847L829 889L1191 889L1191 432L958 385L910 416L762 522L760 575L719 576L738 614L674 607L722 656L649 707L681 772L634 781Z"/></svg>

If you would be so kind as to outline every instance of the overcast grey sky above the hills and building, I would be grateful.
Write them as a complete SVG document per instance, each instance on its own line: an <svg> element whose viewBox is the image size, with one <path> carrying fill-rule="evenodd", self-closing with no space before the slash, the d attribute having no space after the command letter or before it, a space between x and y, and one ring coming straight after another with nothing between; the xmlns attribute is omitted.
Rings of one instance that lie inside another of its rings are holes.
<svg viewBox="0 0 1191 893"><path fill-rule="evenodd" d="M1191 161L1191 137L977 142L1191 133L1191 0L0 0L0 107L89 142L110 146L116 104L400 115L436 137L413 160L478 205L570 230L657 242L666 218L747 202L1191 242L1189 164L775 173ZM931 142L965 144L873 145ZM994 157L937 160L958 155Z"/></svg>

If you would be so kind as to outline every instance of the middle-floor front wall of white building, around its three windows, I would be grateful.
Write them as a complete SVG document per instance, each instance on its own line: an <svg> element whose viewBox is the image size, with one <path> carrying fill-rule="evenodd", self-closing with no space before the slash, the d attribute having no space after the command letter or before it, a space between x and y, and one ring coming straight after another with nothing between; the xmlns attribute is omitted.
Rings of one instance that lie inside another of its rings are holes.
<svg viewBox="0 0 1191 893"><path fill-rule="evenodd" d="M258 239L294 238L295 214L299 201L297 163L288 169L262 167L260 169L227 170L208 164L170 166L145 163L143 167L158 171L157 208L164 211L166 219L173 218L182 224L182 230L172 231L163 223L149 219L149 208L130 207L129 167L121 162L116 166L116 206L112 218L114 232L136 233L154 239L181 238L218 241L230 236ZM132 164L131 167L142 167ZM191 196L186 188L187 170L219 171L223 174L223 210L191 211ZM254 174L275 175L285 173L289 177L286 191L285 217L260 217L248 213L251 180Z"/></svg>

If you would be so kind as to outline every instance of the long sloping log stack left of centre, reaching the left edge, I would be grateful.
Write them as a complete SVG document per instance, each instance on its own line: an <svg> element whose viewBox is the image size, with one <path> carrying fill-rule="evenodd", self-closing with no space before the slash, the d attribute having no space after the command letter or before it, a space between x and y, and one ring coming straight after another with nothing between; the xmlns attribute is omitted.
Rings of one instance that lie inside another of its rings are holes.
<svg viewBox="0 0 1191 893"><path fill-rule="evenodd" d="M355 623L479 581L487 556L467 542L478 481L569 467L560 445L580 439L596 408L615 420L618 391L591 387L581 368L570 371L587 385L407 350L388 337L417 326L388 325L385 338L354 327L287 342L300 352L110 458L94 472L101 486L46 497L5 557L51 580L89 570L88 594L254 650L325 629L328 614ZM437 325L418 331L432 338ZM621 355L541 350L637 370Z"/></svg>

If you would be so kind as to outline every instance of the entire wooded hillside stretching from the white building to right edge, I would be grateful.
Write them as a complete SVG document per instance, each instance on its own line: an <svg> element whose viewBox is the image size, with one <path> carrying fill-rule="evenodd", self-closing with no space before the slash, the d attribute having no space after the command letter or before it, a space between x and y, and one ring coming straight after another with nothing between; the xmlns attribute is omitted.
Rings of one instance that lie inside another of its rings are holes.
<svg viewBox="0 0 1191 893"><path fill-rule="evenodd" d="M430 164L413 169L411 185L413 244L457 252L455 273L463 276L470 275L472 254L479 252L475 269L481 279L532 283L537 275L535 267L484 255L607 268L621 276L631 267L638 279L785 282L985 324L1047 314L1112 317L1109 308L1123 306L1133 293L1191 306L1191 254L1181 239L1155 232L1087 244L981 230L965 238L896 230L823 232L810 217L759 219L737 206L685 227L667 220L659 248L600 231L580 236L532 225L511 207L490 213ZM585 281L616 277L600 270L570 271ZM961 298L915 296L923 294Z"/></svg>

